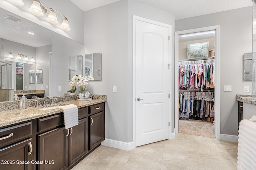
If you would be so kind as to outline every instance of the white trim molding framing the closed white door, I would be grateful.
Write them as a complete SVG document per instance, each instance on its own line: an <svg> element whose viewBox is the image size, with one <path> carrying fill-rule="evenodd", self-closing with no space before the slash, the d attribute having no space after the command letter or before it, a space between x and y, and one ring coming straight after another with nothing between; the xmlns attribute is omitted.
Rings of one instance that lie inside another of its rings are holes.
<svg viewBox="0 0 256 170"><path fill-rule="evenodd" d="M171 60L171 54L172 54L172 25L168 25L166 23L161 23L158 21L154 21L154 20L149 20L147 18L142 18L139 16L132 16L132 59L133 59L133 64L132 64L132 126L133 126L133 139L132 139L132 144L133 144L133 149L136 148L136 59L135 59L135 49L136 49L136 43L135 43L135 33L136 33L136 27L135 27L135 21L143 21L143 22L147 22L147 23L152 23L155 25L160 25L162 27L167 27L169 29L169 36L170 36L170 40L169 40L169 64L172 66L172 60ZM172 74L170 74L170 70L169 70L169 84L172 80ZM170 84L172 85L172 84ZM169 85L169 93L171 92L171 86ZM172 96L172 95L170 95ZM169 98L169 122L170 122L170 126L169 126L169 139L173 139L173 135L172 135L172 98Z"/></svg>

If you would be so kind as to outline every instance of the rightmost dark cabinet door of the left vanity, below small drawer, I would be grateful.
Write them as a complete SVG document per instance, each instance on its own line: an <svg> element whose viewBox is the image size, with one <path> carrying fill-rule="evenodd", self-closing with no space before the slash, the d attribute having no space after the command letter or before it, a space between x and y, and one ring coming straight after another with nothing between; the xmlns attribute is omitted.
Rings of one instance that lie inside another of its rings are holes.
<svg viewBox="0 0 256 170"><path fill-rule="evenodd" d="M90 150L94 149L105 139L104 111L89 117L90 119Z"/></svg>

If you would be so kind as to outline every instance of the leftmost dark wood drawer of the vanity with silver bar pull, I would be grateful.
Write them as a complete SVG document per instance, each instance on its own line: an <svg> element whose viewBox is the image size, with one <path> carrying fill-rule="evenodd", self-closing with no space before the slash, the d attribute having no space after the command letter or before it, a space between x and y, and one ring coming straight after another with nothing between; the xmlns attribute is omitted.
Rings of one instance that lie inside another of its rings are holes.
<svg viewBox="0 0 256 170"><path fill-rule="evenodd" d="M0 147L32 135L32 121L0 130Z"/></svg>

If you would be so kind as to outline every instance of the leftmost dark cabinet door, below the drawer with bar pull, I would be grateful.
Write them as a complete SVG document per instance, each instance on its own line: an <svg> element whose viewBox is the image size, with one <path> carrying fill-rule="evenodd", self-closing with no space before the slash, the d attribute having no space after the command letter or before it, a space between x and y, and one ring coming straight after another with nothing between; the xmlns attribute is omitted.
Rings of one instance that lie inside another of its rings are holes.
<svg viewBox="0 0 256 170"><path fill-rule="evenodd" d="M0 149L0 170L31 170L32 150L31 138Z"/></svg>

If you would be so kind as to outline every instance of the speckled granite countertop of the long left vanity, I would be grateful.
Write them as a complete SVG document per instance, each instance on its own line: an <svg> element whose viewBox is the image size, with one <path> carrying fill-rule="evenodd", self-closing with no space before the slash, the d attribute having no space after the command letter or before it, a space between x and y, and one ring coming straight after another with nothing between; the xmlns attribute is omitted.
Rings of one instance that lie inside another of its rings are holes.
<svg viewBox="0 0 256 170"><path fill-rule="evenodd" d="M67 96L67 97L60 96L60 98L72 99L72 96ZM58 100L60 101L60 99ZM19 101L12 102L11 104L16 106L17 102ZM64 106L68 104L75 104L78 108L81 108L81 107L86 107L86 106L90 106L90 105L94 105L102 102L106 102L106 95L94 95L93 100L85 101L85 102L79 102L77 100L74 100L73 98L73 100L68 100L68 101L64 100L64 102L58 102L52 106ZM9 105L7 103L8 102L6 102L6 105L10 106L10 103ZM51 106L51 105L48 105L48 106ZM32 107L28 107L27 109L9 109L9 110L0 111L0 127L36 119L39 117L54 115L56 113L62 112L61 109L40 110L40 108L41 107L36 108L32 106Z"/></svg>

